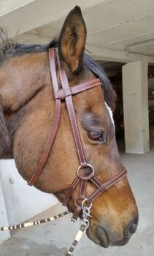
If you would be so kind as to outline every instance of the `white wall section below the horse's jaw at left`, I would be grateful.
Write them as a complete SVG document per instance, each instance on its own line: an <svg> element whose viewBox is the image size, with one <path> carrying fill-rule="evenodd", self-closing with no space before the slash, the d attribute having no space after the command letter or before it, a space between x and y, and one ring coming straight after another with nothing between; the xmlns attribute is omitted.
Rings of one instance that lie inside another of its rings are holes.
<svg viewBox="0 0 154 256"><path fill-rule="evenodd" d="M24 222L58 202L53 195L29 187L13 160L0 161L0 176L9 225Z"/></svg>

